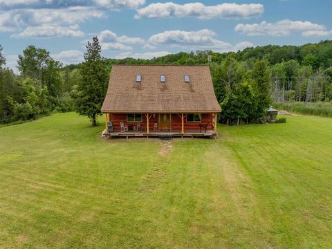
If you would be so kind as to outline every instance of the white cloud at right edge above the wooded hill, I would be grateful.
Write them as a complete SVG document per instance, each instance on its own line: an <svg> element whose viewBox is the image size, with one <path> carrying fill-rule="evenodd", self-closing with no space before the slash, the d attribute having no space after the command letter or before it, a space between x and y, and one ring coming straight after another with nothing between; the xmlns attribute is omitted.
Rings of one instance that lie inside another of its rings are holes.
<svg viewBox="0 0 332 249"><path fill-rule="evenodd" d="M237 24L235 31L250 36L288 36L292 32L302 32L304 36L327 35L326 28L323 25L313 24L310 21L291 21L288 19L275 23L262 21L260 24Z"/></svg>

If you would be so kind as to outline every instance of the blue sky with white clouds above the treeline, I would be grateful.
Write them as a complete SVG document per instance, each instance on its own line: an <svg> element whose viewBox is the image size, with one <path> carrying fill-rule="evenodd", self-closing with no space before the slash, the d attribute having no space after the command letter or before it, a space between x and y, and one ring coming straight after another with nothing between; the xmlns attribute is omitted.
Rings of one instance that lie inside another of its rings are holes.
<svg viewBox="0 0 332 249"><path fill-rule="evenodd" d="M7 66L33 44L64 64L83 59L98 35L104 57L241 50L332 39L331 0L0 0Z"/></svg>

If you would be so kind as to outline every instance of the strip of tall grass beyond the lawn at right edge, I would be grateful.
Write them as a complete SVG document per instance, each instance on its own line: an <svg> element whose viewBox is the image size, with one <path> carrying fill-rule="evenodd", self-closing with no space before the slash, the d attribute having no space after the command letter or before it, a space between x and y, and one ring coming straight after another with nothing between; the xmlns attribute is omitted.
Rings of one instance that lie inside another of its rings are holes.
<svg viewBox="0 0 332 249"><path fill-rule="evenodd" d="M332 101L330 102L284 102L275 104L279 110L286 110L306 115L332 118Z"/></svg>

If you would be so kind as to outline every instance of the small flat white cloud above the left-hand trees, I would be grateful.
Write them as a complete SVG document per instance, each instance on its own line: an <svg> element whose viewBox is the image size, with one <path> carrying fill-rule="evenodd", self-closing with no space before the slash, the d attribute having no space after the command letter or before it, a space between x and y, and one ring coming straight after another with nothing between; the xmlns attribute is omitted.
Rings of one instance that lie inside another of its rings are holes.
<svg viewBox="0 0 332 249"><path fill-rule="evenodd" d="M42 26L28 27L23 32L14 34L11 37L56 38L56 37L82 37L83 35L84 33L81 30L79 30L78 25L73 25L68 27L42 25Z"/></svg>

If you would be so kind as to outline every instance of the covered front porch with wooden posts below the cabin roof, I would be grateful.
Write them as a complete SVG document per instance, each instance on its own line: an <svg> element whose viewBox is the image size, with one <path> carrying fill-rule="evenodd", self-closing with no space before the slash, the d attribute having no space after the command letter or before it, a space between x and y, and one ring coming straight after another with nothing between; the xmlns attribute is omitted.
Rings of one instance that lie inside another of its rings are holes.
<svg viewBox="0 0 332 249"><path fill-rule="evenodd" d="M212 137L216 113L104 113L109 137Z"/></svg>

